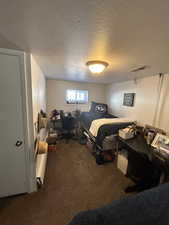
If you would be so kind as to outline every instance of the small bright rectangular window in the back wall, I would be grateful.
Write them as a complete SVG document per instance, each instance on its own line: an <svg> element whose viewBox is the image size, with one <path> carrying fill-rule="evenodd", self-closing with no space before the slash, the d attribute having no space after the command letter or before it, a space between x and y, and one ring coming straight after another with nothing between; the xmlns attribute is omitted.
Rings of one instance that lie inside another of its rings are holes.
<svg viewBox="0 0 169 225"><path fill-rule="evenodd" d="M67 90L67 104L86 104L88 103L88 91L86 90Z"/></svg>

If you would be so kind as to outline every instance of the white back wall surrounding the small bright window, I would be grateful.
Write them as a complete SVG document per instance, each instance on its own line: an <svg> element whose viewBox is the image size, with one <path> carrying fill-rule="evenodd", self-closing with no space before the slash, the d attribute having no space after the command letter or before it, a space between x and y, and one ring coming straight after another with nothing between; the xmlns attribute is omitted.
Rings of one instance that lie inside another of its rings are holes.
<svg viewBox="0 0 169 225"><path fill-rule="evenodd" d="M61 80L47 80L47 112L50 113L53 109L73 111L76 105L66 104L66 90L78 89L89 91L89 104L79 105L78 109L88 111L91 101L102 102L106 101L105 85L93 83L79 83Z"/></svg>

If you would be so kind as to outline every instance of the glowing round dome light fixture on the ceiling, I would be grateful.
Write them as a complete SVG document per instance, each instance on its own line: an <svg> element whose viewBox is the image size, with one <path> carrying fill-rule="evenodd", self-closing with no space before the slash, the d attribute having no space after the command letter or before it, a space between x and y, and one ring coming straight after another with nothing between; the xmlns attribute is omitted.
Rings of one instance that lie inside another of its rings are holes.
<svg viewBox="0 0 169 225"><path fill-rule="evenodd" d="M109 65L107 62L99 61L99 60L93 60L88 61L86 65L89 67L89 70L92 73L101 73L105 68Z"/></svg>

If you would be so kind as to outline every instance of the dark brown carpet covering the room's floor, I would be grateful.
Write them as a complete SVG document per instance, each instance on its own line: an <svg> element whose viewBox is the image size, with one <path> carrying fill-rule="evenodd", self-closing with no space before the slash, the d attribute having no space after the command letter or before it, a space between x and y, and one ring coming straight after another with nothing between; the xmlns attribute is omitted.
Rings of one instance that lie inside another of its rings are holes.
<svg viewBox="0 0 169 225"><path fill-rule="evenodd" d="M62 141L48 154L42 189L0 199L0 225L66 225L82 210L124 197L128 184L115 163L98 166L85 146Z"/></svg>

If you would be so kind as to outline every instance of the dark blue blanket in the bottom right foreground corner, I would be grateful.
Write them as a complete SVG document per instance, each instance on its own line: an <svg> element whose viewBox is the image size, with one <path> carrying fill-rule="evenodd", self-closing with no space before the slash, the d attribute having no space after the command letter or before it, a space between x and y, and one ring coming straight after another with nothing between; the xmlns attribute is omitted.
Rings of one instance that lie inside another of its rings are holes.
<svg viewBox="0 0 169 225"><path fill-rule="evenodd" d="M168 225L169 184L80 212L69 225Z"/></svg>

